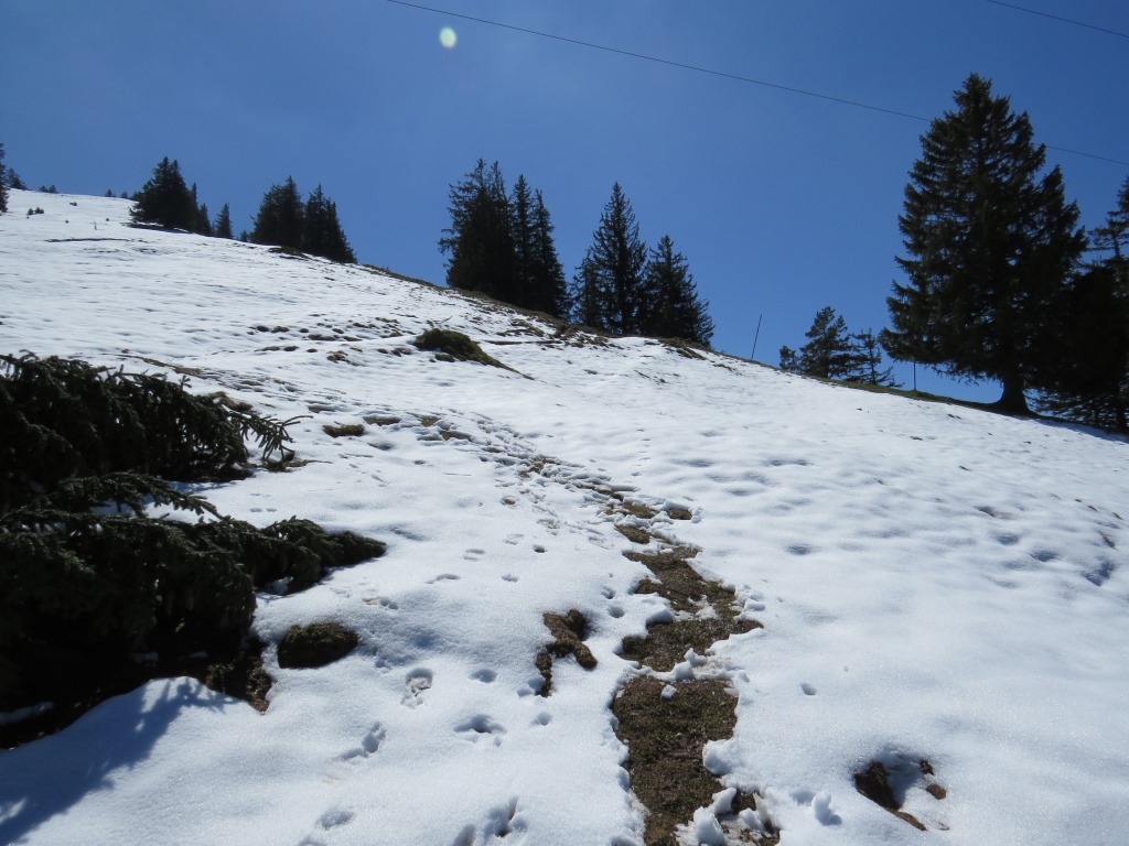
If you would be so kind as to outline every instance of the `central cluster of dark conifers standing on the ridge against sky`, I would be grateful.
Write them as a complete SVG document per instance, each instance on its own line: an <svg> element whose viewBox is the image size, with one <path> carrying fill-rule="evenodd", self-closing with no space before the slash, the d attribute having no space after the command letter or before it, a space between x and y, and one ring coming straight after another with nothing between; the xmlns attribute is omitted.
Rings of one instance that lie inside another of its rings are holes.
<svg viewBox="0 0 1129 846"><path fill-rule="evenodd" d="M714 323L685 257L669 236L648 249L616 183L584 261L568 282L540 190L518 176L513 192L498 162L479 159L450 186L450 227L439 239L447 284L621 335L709 345Z"/></svg>

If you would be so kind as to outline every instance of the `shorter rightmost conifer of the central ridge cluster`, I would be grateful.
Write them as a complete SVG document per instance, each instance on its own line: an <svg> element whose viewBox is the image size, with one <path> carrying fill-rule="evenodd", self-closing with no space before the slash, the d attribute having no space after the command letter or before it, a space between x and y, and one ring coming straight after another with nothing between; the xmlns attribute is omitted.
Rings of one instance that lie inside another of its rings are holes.
<svg viewBox="0 0 1129 846"><path fill-rule="evenodd" d="M671 236L664 235L647 263L644 314L647 335L682 338L709 346L714 320L709 303L698 298L690 265L674 250Z"/></svg>

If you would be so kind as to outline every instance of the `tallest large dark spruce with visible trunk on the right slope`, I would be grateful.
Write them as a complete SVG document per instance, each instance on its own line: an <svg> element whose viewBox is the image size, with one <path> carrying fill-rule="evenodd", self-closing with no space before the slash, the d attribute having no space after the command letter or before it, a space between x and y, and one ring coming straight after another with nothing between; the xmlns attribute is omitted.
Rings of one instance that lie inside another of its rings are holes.
<svg viewBox="0 0 1129 846"><path fill-rule="evenodd" d="M1085 238L1026 114L972 74L956 111L922 135L899 218L905 284L887 299L887 352L957 377L996 379L999 406L1027 408L1025 389L1056 334L1053 302Z"/></svg>

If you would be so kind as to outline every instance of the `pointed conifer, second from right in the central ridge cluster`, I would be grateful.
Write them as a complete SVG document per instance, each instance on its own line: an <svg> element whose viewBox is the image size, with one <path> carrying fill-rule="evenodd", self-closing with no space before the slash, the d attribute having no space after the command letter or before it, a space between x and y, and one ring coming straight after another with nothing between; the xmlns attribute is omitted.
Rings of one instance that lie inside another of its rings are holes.
<svg viewBox="0 0 1129 846"><path fill-rule="evenodd" d="M640 333L646 265L647 247L639 239L634 211L615 183L574 281L583 321L620 335Z"/></svg>

